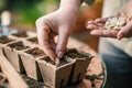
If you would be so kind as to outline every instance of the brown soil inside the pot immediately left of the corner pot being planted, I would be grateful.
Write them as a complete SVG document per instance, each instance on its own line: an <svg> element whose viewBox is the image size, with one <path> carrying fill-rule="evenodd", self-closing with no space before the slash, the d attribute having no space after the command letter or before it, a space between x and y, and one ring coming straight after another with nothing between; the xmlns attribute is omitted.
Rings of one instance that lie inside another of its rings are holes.
<svg viewBox="0 0 132 88"><path fill-rule="evenodd" d="M33 55L34 57L41 57L44 56L44 52L40 50L38 47L32 48L26 51L25 53Z"/></svg>

